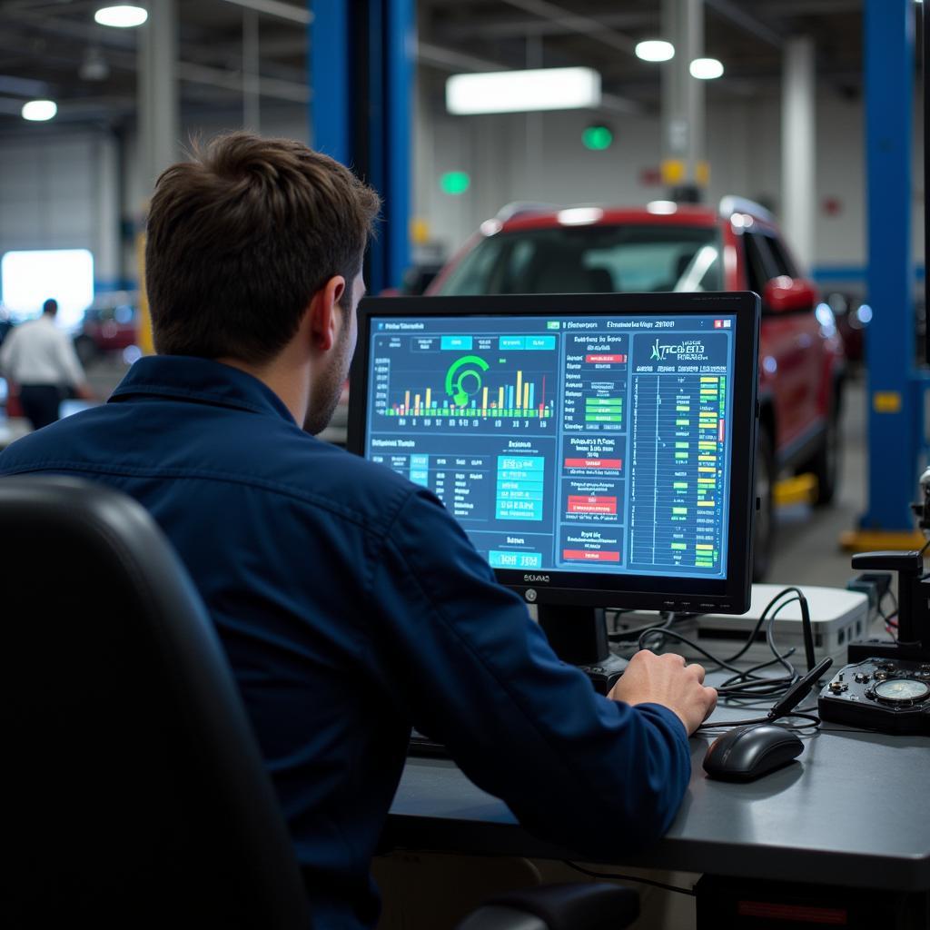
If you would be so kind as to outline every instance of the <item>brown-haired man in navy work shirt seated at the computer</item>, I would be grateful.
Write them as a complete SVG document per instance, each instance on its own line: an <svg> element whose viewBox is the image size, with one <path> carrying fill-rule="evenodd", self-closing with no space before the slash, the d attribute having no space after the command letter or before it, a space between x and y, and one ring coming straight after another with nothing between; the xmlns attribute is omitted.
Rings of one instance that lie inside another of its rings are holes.
<svg viewBox="0 0 930 930"><path fill-rule="evenodd" d="M642 653L613 697L552 654L432 494L314 439L355 343L379 198L298 142L237 133L159 179L158 355L0 474L68 472L155 516L216 622L314 922L373 926L367 870L411 724L526 827L616 853L667 829L716 693Z"/></svg>

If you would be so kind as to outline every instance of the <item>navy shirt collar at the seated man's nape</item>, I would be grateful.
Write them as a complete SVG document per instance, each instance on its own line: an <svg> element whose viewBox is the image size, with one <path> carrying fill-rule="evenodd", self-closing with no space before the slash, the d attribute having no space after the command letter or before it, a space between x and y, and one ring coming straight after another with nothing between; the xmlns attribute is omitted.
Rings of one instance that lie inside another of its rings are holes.
<svg viewBox="0 0 930 930"><path fill-rule="evenodd" d="M148 394L201 404L271 413L295 422L284 401L252 375L208 358L149 355L140 358L110 395L108 404Z"/></svg>

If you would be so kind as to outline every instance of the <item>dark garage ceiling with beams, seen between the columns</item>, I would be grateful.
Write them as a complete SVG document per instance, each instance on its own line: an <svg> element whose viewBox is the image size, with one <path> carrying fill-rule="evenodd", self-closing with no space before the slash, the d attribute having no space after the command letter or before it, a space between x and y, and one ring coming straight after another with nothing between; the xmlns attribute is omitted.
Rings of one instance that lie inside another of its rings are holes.
<svg viewBox="0 0 930 930"><path fill-rule="evenodd" d="M97 25L100 0L0 0L0 131L20 131L31 97L59 102L59 122L113 127L134 120L134 30ZM259 7L260 12L255 8ZM809 34L817 79L847 96L861 86L861 0L705 0L705 46L724 61L712 93L777 93L781 47ZM242 112L244 37L259 31L262 112L305 106L306 5L293 0L178 0L179 78L187 120ZM659 33L660 0L419 0L419 64L446 73L586 64L608 105L658 110L656 65L632 48Z"/></svg>

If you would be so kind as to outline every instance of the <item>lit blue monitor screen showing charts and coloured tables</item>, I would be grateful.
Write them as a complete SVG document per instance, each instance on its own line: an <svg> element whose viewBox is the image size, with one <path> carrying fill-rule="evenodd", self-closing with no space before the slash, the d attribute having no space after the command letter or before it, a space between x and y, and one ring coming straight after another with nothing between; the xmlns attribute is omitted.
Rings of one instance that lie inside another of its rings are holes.
<svg viewBox="0 0 930 930"><path fill-rule="evenodd" d="M365 457L495 568L725 578L736 321L373 319Z"/></svg>

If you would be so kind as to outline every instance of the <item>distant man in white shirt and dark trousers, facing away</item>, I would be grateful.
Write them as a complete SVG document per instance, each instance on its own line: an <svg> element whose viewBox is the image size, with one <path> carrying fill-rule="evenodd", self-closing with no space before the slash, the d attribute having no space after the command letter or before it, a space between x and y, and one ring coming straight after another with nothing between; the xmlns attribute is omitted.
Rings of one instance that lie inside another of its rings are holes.
<svg viewBox="0 0 930 930"><path fill-rule="evenodd" d="M42 315L13 329L0 349L0 372L18 386L22 412L33 430L59 419L69 388L86 400L93 396L71 339L55 326L57 313L58 301L46 300Z"/></svg>

